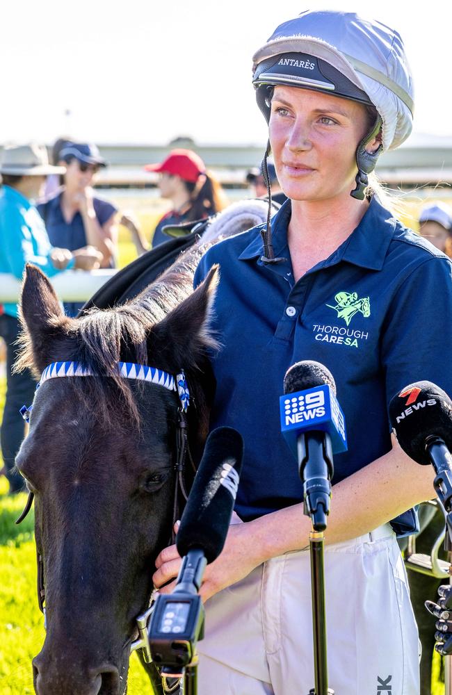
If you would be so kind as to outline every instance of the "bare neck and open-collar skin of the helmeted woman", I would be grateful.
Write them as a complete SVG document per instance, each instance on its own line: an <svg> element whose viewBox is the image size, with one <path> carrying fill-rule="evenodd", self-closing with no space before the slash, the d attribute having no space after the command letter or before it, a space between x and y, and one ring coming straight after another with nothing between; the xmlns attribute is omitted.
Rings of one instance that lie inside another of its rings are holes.
<svg viewBox="0 0 452 695"><path fill-rule="evenodd" d="M360 224L368 207L367 200L350 195L328 201L293 200L287 240L295 279L327 259Z"/></svg>

